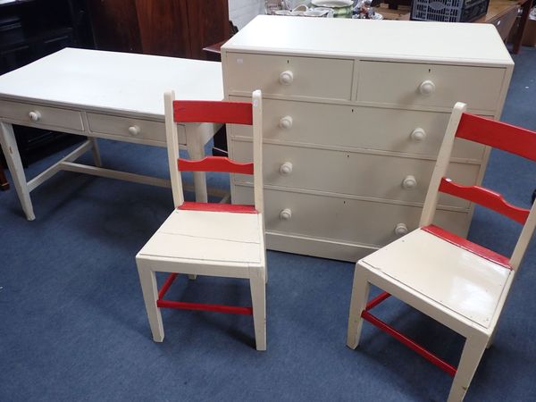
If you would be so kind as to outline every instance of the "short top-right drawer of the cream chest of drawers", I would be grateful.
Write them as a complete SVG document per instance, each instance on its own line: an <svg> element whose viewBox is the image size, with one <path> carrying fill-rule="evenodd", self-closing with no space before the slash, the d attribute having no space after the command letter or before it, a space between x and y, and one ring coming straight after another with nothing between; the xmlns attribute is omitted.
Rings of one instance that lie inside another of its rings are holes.
<svg viewBox="0 0 536 402"><path fill-rule="evenodd" d="M495 111L506 69L456 65L360 62L357 101Z"/></svg>

